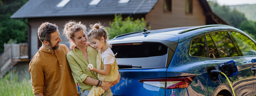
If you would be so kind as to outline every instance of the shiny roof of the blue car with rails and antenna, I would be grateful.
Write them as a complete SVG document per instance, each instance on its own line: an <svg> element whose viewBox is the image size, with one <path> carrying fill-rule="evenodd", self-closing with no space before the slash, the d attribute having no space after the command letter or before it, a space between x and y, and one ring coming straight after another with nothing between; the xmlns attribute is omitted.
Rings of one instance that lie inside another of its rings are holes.
<svg viewBox="0 0 256 96"><path fill-rule="evenodd" d="M111 39L110 42L131 41L131 40L145 41L145 40L152 40L152 39L179 42L179 39L183 41L184 39L188 39L193 36L197 36L207 32L217 31L217 30L229 30L229 29L239 30L237 28L234 28L228 25L204 25L204 26L164 28L164 29L157 29L157 30L137 31L137 32L119 35ZM149 33L143 34L145 32L149 32Z"/></svg>

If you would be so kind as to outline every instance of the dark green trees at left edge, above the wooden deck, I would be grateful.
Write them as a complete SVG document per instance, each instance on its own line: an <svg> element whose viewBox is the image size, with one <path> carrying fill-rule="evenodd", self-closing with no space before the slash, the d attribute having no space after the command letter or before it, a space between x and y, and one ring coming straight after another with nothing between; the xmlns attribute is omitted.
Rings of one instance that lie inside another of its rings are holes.
<svg viewBox="0 0 256 96"><path fill-rule="evenodd" d="M4 52L4 43L9 40L16 43L27 42L27 25L22 19L10 19L28 0L0 0L0 53Z"/></svg>

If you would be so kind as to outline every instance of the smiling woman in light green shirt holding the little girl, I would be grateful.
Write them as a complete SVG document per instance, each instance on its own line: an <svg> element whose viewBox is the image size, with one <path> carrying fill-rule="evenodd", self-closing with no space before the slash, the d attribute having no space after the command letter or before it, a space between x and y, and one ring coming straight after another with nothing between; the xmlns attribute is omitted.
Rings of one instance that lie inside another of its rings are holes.
<svg viewBox="0 0 256 96"><path fill-rule="evenodd" d="M81 22L69 21L64 25L63 34L69 39L71 51L67 54L68 64L73 76L80 84L81 96L87 96L93 85L99 86L99 80L96 72L90 72L87 69L88 64L94 67L96 64L96 56L98 51L87 45L87 37L85 36L86 27ZM110 84L119 83L118 79L113 82L102 82L101 87L106 91L101 96L112 96Z"/></svg>

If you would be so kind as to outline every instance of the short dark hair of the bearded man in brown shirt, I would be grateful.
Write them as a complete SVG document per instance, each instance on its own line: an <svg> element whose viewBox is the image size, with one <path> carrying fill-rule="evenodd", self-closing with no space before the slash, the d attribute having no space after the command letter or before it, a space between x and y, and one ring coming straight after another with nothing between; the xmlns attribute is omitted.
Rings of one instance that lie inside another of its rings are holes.
<svg viewBox="0 0 256 96"><path fill-rule="evenodd" d="M37 30L39 40L41 42L44 42L44 40L51 42L51 33L55 32L56 30L58 30L58 26L56 24L44 22Z"/></svg>

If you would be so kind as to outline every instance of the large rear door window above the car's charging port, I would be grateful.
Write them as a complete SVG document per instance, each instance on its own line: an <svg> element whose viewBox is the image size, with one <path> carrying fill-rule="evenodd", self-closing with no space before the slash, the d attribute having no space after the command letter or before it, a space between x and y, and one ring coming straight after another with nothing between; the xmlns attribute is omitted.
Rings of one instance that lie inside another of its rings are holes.
<svg viewBox="0 0 256 96"><path fill-rule="evenodd" d="M210 34L217 48L220 58L238 56L236 48L231 41L227 31L215 32Z"/></svg>

